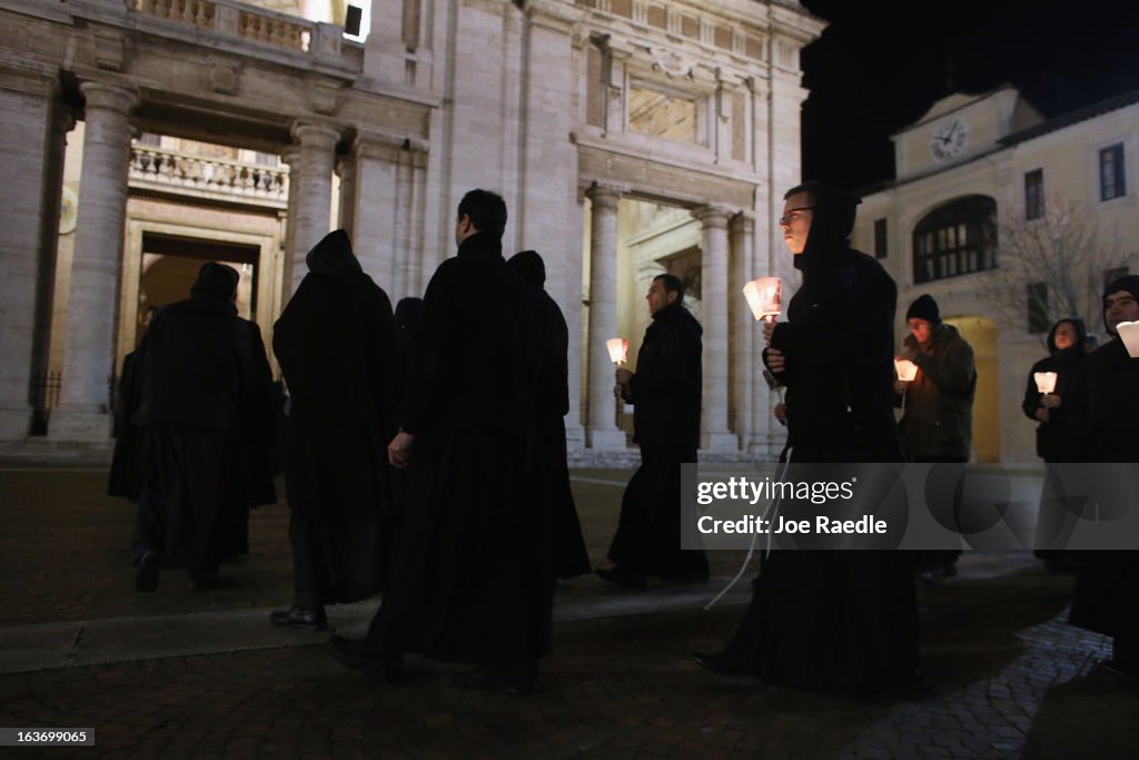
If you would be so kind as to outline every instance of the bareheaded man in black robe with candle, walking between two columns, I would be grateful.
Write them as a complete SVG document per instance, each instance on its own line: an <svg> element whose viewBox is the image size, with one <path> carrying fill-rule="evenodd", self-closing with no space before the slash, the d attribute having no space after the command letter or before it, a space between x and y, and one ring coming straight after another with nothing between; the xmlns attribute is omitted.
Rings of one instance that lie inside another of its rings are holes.
<svg viewBox="0 0 1139 760"><path fill-rule="evenodd" d="M708 577L705 551L680 548L680 466L696 461L704 330L685 308L685 285L675 276L658 275L645 297L653 322L637 352L637 371L616 370L621 395L633 404L641 466L621 500L609 546L614 565L597 571L629 588L644 587L649 575L680 582Z"/></svg>

